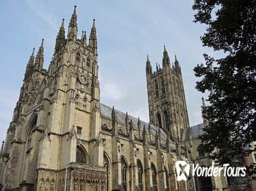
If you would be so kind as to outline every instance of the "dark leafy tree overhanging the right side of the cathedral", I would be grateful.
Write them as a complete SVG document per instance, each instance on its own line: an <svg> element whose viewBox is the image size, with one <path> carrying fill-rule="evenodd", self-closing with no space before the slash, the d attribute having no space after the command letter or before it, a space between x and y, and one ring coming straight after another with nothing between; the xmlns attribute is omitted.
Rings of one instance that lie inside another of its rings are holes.
<svg viewBox="0 0 256 191"><path fill-rule="evenodd" d="M195 0L193 10L194 22L207 26L203 46L224 52L221 59L205 54L194 68L196 89L209 91L201 149L229 163L255 150L246 147L256 141L256 0Z"/></svg>

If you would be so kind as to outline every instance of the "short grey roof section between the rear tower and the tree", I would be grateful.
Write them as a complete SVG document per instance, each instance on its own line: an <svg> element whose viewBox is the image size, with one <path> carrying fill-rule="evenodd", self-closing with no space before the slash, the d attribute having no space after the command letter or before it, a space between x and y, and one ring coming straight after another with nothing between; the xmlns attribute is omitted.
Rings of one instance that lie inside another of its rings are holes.
<svg viewBox="0 0 256 191"><path fill-rule="evenodd" d="M196 126L192 126L190 128L185 128L181 135L181 141L188 141L192 138L198 138L200 135L203 134L203 128L205 126L203 123L200 123Z"/></svg>

